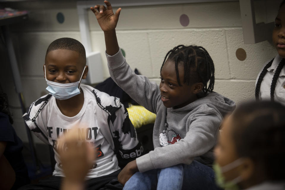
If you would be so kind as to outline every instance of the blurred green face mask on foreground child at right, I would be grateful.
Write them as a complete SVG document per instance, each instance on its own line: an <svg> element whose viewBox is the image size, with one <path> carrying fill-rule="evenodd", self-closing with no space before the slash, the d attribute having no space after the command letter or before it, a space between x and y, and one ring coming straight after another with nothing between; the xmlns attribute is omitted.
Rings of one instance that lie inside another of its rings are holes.
<svg viewBox="0 0 285 190"><path fill-rule="evenodd" d="M235 179L226 182L223 174L227 171L230 171L240 166L242 162L243 162L243 158L239 158L223 167L220 167L219 164L214 163L213 170L216 175L216 184L225 190L239 190L240 188L238 187L238 183L242 181L241 177L238 176Z"/></svg>

